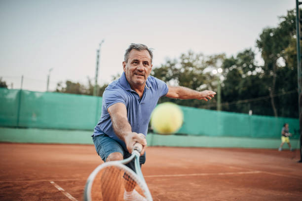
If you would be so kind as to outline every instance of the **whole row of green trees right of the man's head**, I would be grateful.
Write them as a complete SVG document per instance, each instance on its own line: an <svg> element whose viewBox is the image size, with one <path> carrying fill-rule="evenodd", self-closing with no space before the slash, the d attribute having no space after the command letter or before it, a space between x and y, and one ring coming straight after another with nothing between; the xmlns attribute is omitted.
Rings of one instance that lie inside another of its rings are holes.
<svg viewBox="0 0 302 201"><path fill-rule="evenodd" d="M294 10L281 16L275 28L265 28L256 45L264 65L257 65L256 54L245 49L235 57L204 56L189 51L179 59L167 60L154 68L152 75L170 85L194 90L217 90L217 78L211 70L222 67L222 109L224 111L298 117L296 22ZM216 99L172 100L180 105L216 109Z"/></svg>

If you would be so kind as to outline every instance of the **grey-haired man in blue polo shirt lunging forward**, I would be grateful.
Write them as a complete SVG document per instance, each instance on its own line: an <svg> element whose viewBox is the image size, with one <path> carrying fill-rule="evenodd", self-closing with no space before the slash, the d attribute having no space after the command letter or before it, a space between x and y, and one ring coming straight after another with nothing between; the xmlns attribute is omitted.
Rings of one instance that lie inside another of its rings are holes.
<svg viewBox="0 0 302 201"><path fill-rule="evenodd" d="M143 44L131 44L124 55L123 73L105 90L102 115L94 129L93 142L104 162L122 160L131 155L136 142L143 145L140 164L146 161L146 139L151 112L160 97L210 100L213 91L198 92L186 87L173 87L150 76L153 54ZM126 166L135 171L134 163ZM125 201L144 201L134 187L126 187ZM110 193L110 192L108 192Z"/></svg>

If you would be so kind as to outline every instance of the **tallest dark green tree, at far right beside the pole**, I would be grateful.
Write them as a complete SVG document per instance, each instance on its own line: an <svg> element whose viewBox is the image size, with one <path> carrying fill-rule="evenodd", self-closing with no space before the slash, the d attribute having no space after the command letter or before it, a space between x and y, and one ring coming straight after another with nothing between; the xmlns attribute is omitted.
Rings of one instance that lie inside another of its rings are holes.
<svg viewBox="0 0 302 201"><path fill-rule="evenodd" d="M270 96L274 116L298 117L298 93L285 97L273 96L294 91L298 87L295 34L296 13L290 10L286 16L280 17L276 28L265 28L256 42L264 59L263 87ZM284 65L278 61L283 61Z"/></svg>

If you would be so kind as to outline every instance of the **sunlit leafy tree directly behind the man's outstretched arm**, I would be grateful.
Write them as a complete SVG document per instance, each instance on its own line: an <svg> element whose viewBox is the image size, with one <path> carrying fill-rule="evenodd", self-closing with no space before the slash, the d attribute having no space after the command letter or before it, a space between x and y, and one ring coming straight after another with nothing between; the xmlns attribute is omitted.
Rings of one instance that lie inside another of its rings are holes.
<svg viewBox="0 0 302 201"><path fill-rule="evenodd" d="M212 60L213 65L216 65L215 58L207 58L202 54L196 54L192 51L183 53L179 59L167 59L165 64L160 67L155 67L151 71L151 75L163 80L168 85L184 86L197 91L205 89L213 89L215 86L215 76L206 69L207 61ZM184 106L199 107L199 108L215 108L215 105L209 105L200 100L177 100L163 97L159 103L171 101Z"/></svg>

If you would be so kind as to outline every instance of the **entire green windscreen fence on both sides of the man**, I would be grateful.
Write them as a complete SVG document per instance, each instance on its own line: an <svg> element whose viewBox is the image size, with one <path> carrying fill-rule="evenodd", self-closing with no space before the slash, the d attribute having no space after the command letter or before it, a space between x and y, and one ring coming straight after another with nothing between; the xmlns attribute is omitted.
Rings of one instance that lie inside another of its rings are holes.
<svg viewBox="0 0 302 201"><path fill-rule="evenodd" d="M101 97L0 88L0 126L92 131L101 104ZM184 124L178 134L279 138L289 123L292 138L299 138L299 119L181 108Z"/></svg>

